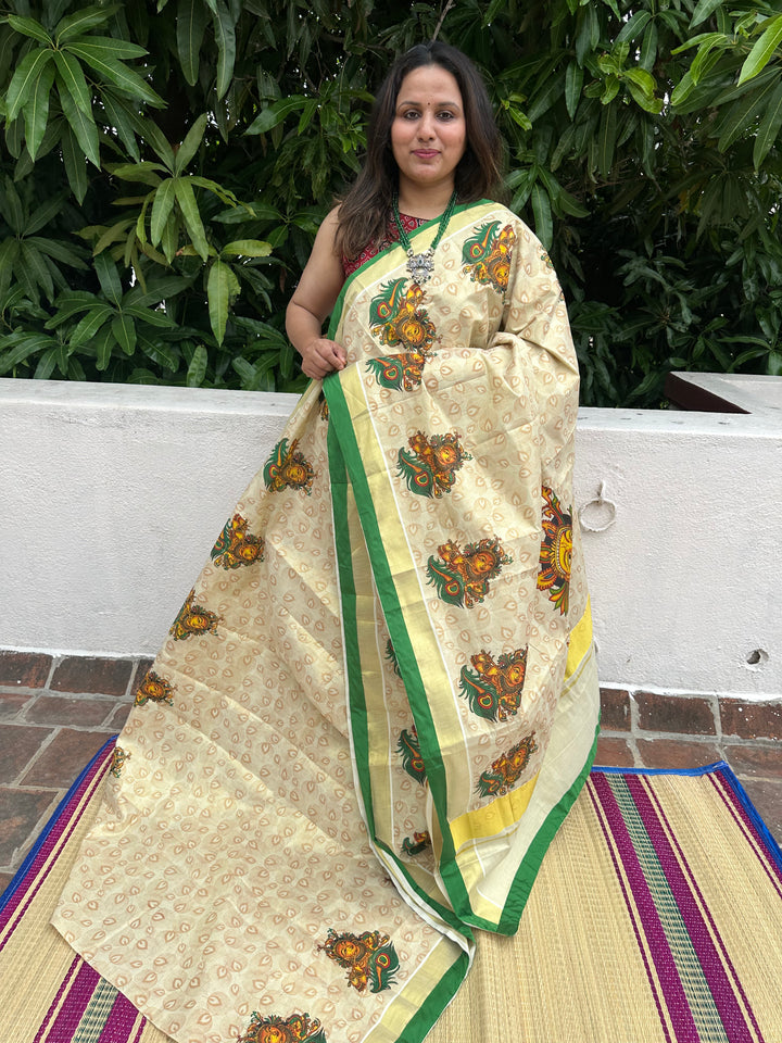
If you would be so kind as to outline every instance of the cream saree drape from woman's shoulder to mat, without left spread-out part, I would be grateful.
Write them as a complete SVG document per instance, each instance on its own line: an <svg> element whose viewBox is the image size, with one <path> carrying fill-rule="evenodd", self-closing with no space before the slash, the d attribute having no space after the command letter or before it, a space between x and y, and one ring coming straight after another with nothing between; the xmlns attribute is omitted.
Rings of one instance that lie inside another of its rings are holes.
<svg viewBox="0 0 782 1043"><path fill-rule="evenodd" d="M518 218L464 206L429 282L379 254L330 336L349 362L324 389L369 834L416 905L514 933L597 732L562 291Z"/></svg>

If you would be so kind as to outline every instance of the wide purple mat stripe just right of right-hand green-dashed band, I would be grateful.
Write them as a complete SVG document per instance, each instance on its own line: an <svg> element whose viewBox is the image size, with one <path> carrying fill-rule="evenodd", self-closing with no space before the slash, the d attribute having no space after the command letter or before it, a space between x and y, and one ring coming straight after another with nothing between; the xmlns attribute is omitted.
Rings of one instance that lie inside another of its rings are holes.
<svg viewBox="0 0 782 1043"><path fill-rule="evenodd" d="M703 895L697 889L694 875L679 844L677 844L679 852L678 858L673 852L669 840L669 834L672 835L673 831L659 807L659 802L652 800L646 788L648 783L643 777L632 776L626 779L626 782L639 815L641 816L644 829L652 841L657 860L676 900L690 942L701 964L701 969L708 984L709 992L711 993L717 1013L726 1030L730 1032L731 1043L756 1043L757 1040L762 1041L754 1016L752 1017L752 1021L758 1036L751 1031L744 1010L736 1000L737 991L746 1003L746 996L739 982L739 976L730 962L727 948L717 931L716 923L711 919L711 916L707 914L708 923L718 939L719 950L721 952L718 951L714 942L706 919L695 899L695 894L701 899L701 904L704 908L706 908L706 903L703 901ZM668 827L668 832L663 828L663 822ZM686 874L682 870L682 864L685 867ZM730 969L730 976L726 970L726 965Z"/></svg>

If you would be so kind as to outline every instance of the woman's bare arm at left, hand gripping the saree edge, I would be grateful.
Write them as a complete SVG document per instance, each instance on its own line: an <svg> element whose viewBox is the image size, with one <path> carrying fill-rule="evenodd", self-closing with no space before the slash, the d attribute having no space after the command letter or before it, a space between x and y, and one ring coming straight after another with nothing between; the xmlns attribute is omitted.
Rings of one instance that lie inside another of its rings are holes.
<svg viewBox="0 0 782 1043"><path fill-rule="evenodd" d="M342 347L323 336L323 324L344 282L342 262L335 250L337 213L332 210L318 228L310 260L286 312L286 329L302 356L302 369L315 379L343 369L345 364Z"/></svg>

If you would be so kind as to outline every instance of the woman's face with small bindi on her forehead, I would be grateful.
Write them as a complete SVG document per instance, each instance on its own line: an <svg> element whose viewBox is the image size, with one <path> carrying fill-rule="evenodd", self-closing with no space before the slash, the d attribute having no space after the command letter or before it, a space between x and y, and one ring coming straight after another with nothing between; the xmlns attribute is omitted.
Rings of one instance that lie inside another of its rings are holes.
<svg viewBox="0 0 782 1043"><path fill-rule="evenodd" d="M391 149L400 194L442 186L453 191L454 172L467 144L462 92L440 65L420 65L402 80L391 124Z"/></svg>

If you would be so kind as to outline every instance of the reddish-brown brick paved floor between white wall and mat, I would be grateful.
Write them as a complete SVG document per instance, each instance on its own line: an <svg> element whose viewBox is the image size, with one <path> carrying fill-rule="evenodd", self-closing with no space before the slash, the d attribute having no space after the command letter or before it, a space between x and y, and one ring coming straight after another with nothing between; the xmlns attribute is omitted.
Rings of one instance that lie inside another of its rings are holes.
<svg viewBox="0 0 782 1043"><path fill-rule="evenodd" d="M0 892L81 768L121 730L150 663L0 652ZM724 759L782 840L782 700L602 694L597 764Z"/></svg>

